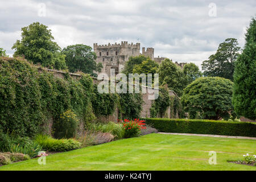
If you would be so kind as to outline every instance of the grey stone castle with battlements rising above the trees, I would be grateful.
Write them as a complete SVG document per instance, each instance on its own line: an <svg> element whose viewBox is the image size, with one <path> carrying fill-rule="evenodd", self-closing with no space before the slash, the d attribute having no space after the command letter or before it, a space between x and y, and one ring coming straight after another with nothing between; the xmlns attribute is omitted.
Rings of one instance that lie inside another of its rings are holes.
<svg viewBox="0 0 256 182"><path fill-rule="evenodd" d="M102 63L103 68L101 73L107 73L110 76L110 69L115 70L115 74L121 73L125 62L129 60L130 56L139 56L144 55L149 57L152 60L155 60L157 63L161 63L166 57L154 57L154 48L145 48L142 47L142 53L140 53L141 44L128 44L128 42L121 42L121 44L108 44L108 45L98 45L97 43L93 44L93 51L97 55L96 63ZM177 63L181 69L186 63Z"/></svg>

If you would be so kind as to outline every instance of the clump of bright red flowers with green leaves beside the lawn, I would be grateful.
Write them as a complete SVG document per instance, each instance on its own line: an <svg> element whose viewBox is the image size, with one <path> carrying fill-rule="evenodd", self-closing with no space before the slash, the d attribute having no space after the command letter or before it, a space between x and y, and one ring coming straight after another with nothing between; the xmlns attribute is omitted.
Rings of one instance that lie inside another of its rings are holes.
<svg viewBox="0 0 256 182"><path fill-rule="evenodd" d="M125 129L124 138L138 137L141 134L142 129L146 129L144 120L140 119L125 119L119 120L117 123L121 123L123 128Z"/></svg>

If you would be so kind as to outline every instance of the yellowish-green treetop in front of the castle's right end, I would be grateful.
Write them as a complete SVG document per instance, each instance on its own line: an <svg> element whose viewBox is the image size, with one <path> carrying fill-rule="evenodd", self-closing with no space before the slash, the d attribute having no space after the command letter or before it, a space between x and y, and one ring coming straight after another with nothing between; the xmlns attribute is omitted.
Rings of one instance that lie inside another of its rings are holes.
<svg viewBox="0 0 256 182"><path fill-rule="evenodd" d="M133 73L156 73L158 71L159 64L156 63L156 61L147 59L145 61L142 61L141 64L134 65L133 67Z"/></svg>

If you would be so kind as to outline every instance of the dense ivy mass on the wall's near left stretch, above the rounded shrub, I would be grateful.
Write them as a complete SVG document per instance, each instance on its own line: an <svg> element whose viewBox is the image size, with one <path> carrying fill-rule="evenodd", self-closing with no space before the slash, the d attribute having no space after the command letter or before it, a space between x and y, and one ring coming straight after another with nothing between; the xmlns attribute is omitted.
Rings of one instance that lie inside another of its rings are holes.
<svg viewBox="0 0 256 182"><path fill-rule="evenodd" d="M20 58L0 58L0 130L32 137L46 130L68 109L80 122L93 118L88 113L92 78L82 75L75 80L65 74L65 79L42 71ZM44 127L45 126L45 127Z"/></svg>

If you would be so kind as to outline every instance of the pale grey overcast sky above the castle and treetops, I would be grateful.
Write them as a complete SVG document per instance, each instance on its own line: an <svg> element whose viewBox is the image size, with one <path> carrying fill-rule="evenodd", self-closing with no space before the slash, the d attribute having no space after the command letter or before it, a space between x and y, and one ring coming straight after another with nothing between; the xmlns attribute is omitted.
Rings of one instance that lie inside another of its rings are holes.
<svg viewBox="0 0 256 182"><path fill-rule="evenodd" d="M197 65L226 38L243 47L246 27L256 15L255 0L0 0L0 5L0 47L9 55L20 29L40 22L61 48L140 42L155 48L155 57Z"/></svg>

